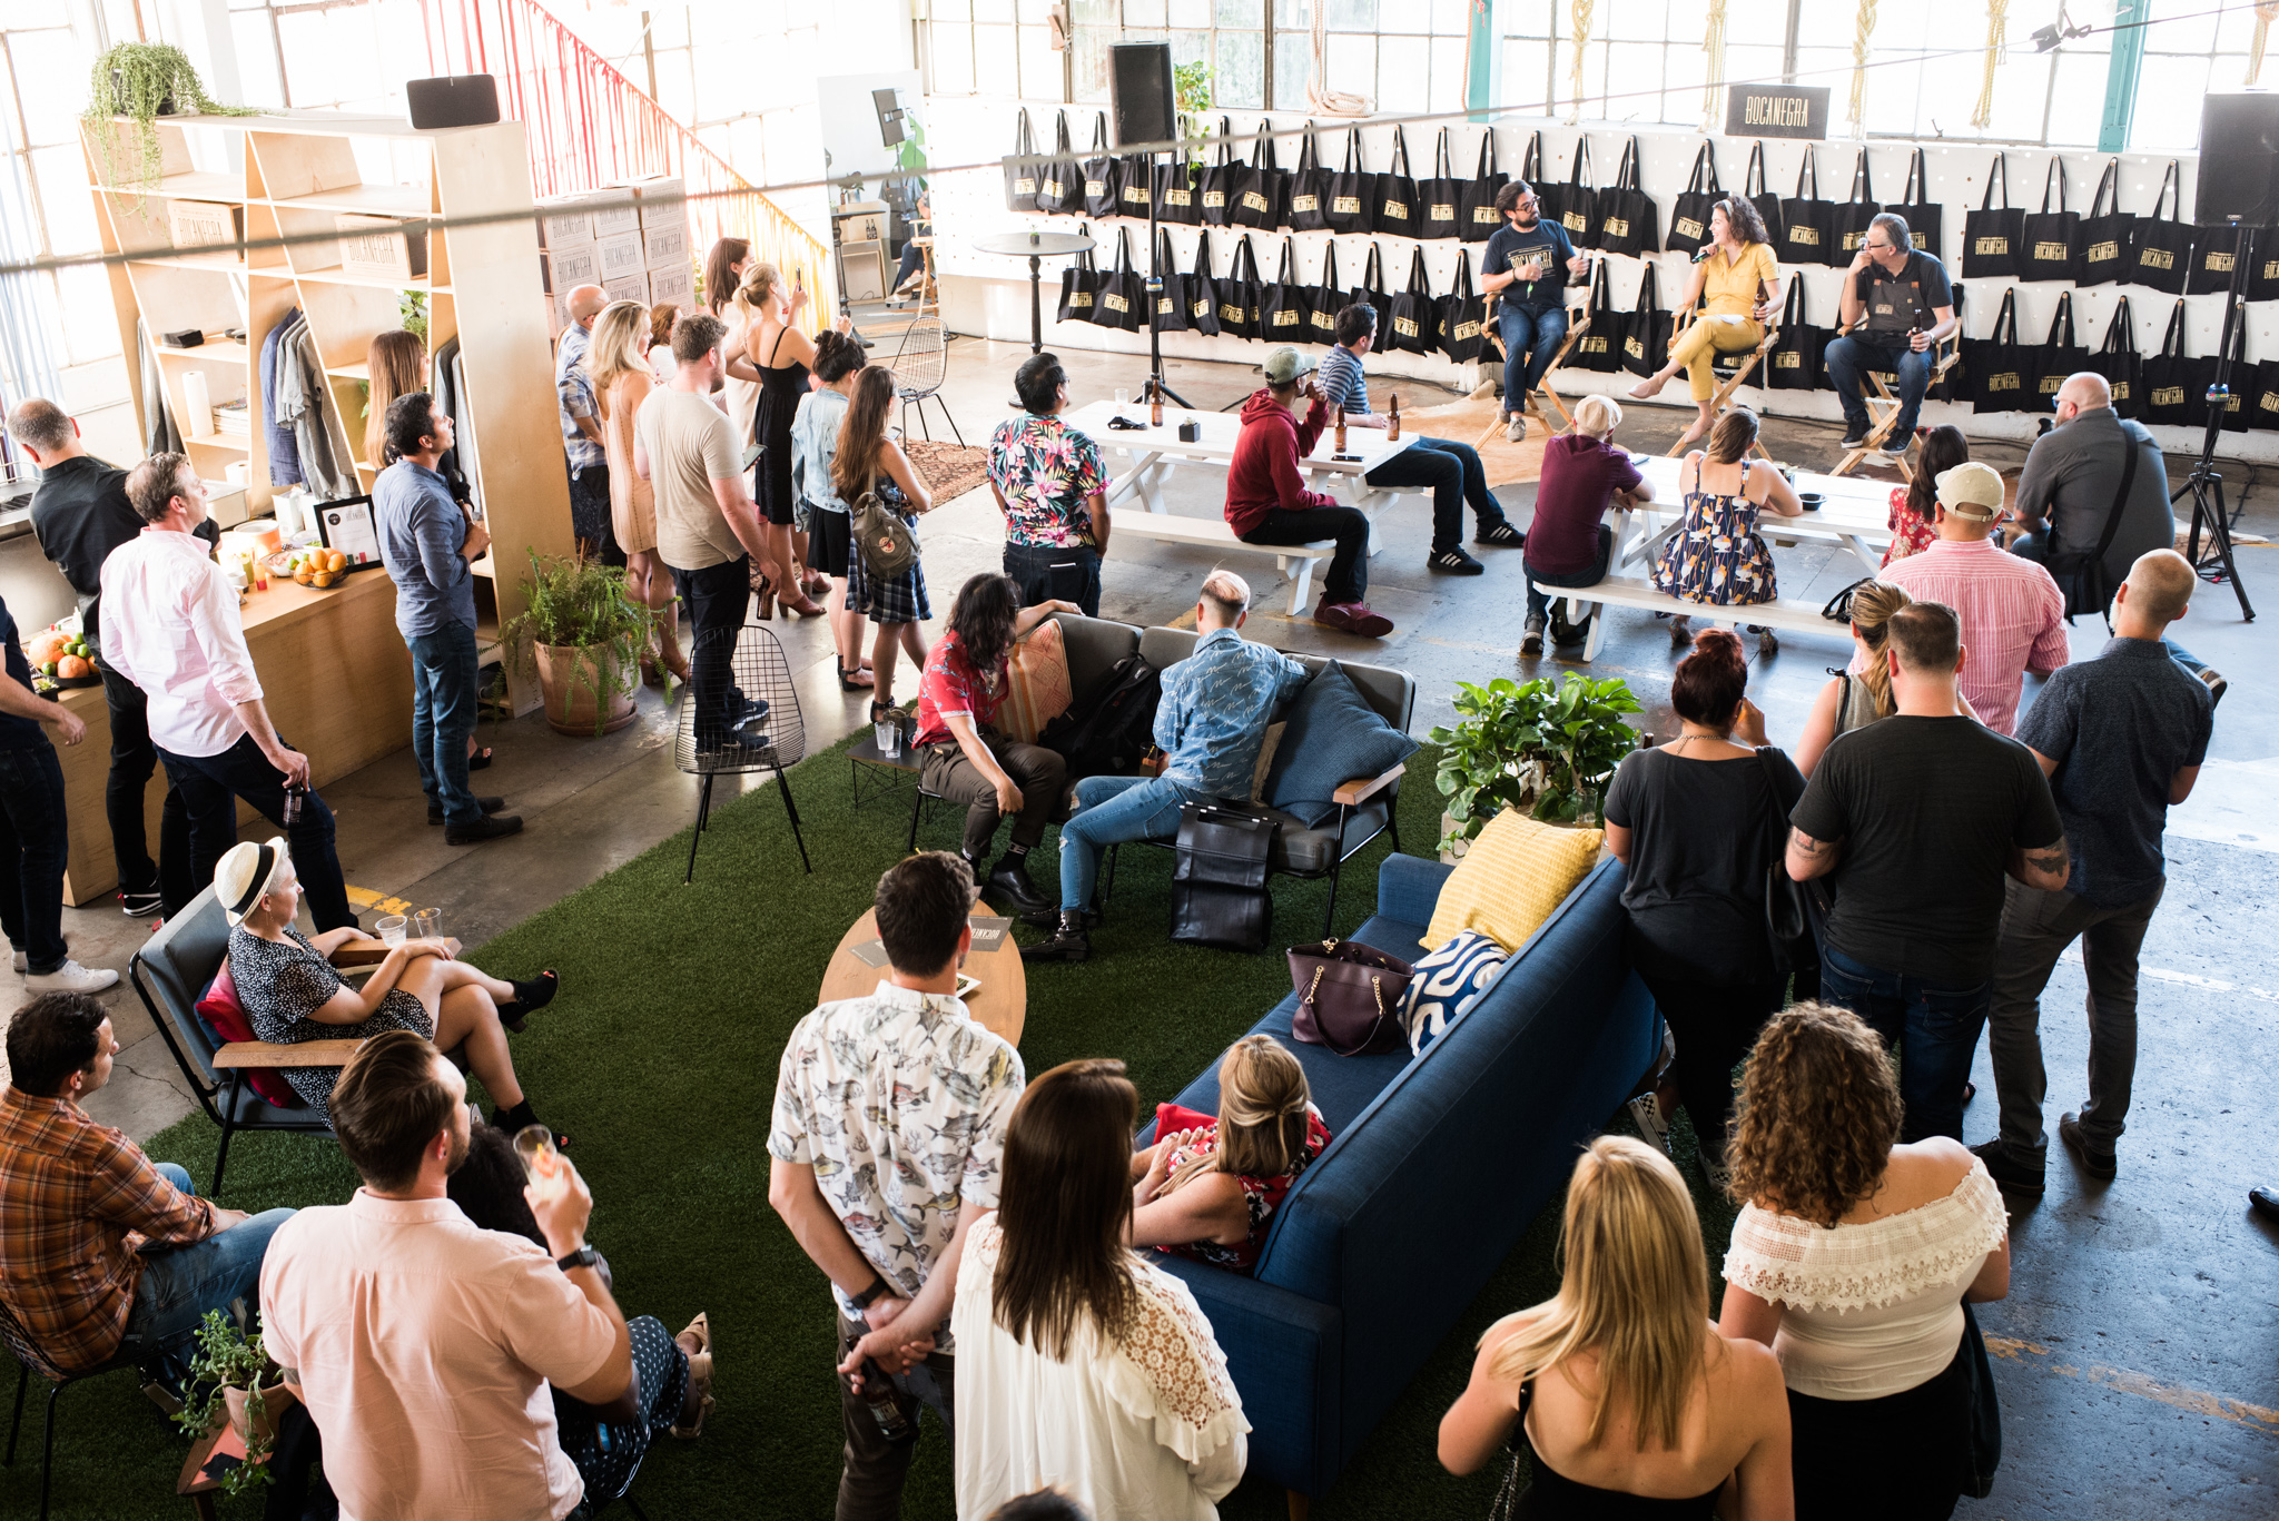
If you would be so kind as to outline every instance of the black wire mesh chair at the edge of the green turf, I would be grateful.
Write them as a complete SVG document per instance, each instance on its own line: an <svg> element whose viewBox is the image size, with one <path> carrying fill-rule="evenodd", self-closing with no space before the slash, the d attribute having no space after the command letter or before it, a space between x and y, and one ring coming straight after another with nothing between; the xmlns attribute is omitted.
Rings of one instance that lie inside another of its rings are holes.
<svg viewBox="0 0 2279 1521"><path fill-rule="evenodd" d="M697 844L711 821L713 778L748 771L775 773L784 814L791 819L791 841L800 846L800 867L814 871L807 841L800 837L800 807L791 800L791 778L784 775L784 766L795 766L807 755L807 725L800 718L800 693L791 684L784 645L757 623L734 629L734 643L729 629L704 629L695 639L688 666L672 764L704 778L704 789L697 794L697 830L688 839L688 873L681 882L693 882L697 876ZM720 686L725 691L718 691Z"/></svg>

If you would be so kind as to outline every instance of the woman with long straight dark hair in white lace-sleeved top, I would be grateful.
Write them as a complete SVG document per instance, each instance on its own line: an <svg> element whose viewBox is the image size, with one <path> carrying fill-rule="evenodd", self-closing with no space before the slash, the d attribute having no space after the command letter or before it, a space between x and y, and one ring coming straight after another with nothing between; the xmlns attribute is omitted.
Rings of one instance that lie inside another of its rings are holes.
<svg viewBox="0 0 2279 1521"><path fill-rule="evenodd" d="M1028 1085L1005 1126L998 1209L957 1266L957 1514L1046 1485L1094 1516L1212 1521L1249 1421L1183 1282L1130 1250L1124 1063Z"/></svg>

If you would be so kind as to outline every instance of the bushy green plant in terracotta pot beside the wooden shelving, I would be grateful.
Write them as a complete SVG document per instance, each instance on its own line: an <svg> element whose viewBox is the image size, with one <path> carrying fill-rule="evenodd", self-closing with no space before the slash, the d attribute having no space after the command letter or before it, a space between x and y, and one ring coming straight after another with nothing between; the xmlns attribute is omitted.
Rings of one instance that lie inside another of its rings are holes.
<svg viewBox="0 0 2279 1521"><path fill-rule="evenodd" d="M517 670L538 670L547 723L558 734L613 734L634 721L640 657L656 613L624 595L624 570L531 554L524 611L499 629Z"/></svg>

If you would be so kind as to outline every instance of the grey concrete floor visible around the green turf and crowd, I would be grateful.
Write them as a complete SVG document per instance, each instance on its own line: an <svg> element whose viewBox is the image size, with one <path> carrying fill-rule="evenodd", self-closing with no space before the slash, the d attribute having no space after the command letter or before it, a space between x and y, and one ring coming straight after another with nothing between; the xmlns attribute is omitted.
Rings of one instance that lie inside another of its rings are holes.
<svg viewBox="0 0 2279 1521"><path fill-rule="evenodd" d="M1016 344L959 340L950 347L944 397L966 442L985 442L1007 415L1010 376L1023 356ZM1133 360L1064 358L1078 401L1114 385L1137 390L1144 379ZM1253 365L1256 358L1251 365L1176 363L1167 379L1194 406L1224 406L1258 385ZM1408 383L1402 392L1411 408L1443 399ZM1659 452L1680 424L1673 408L1639 406L1623 442ZM1835 458L1835 431L1821 424L1769 422L1766 445L1778 458L1812 467ZM1992 445L1983 456L2015 465L2021 452ZM2243 527L2272 536L2279 529L2272 493L2258 490L2240 467L2227 486L2238 493L2243 479ZM1187 472L1174 479L1169 499L1174 511L1217 515L1219 490L1222 477ZM1525 524L1534 488L1497 495ZM1288 650L1354 654L1413 670L1418 734L1449 721L1459 680L1579 668L1513 657L1522 609L1518 554L1481 550L1488 572L1479 579L1433 577L1422 566L1427 506L1411 497L1383 527L1388 547L1372 566L1370 600L1399 625L1390 639L1356 641L1292 623L1279 611L1279 581L1265 563L1240 556L1235 568L1251 577L1260 602L1249 632ZM964 577L998 563L1000 520L989 495L973 493L937 511L923 524L923 540L939 616ZM43 570L23 559L36 554L27 545L27 538L0 543L0 595L11 607L32 593ZM2240 559L2249 591L2279 604L2279 554L2252 547ZM1121 540L1103 575L1101 611L1142 625L1178 618L1212 563L1215 556L1199 550ZM1841 550L1780 550L1778 568L1789 597L1828 597L1860 575ZM864 700L839 691L820 620L779 618L773 627L800 673L809 748L823 748L864 721ZM1677 652L1664 627L1618 609L1593 670L1629 680L1648 705L1648 725L1675 732L1666 700ZM2270 935L2279 924L2272 887L2279 682L2270 645L2240 618L2229 588L2204 586L2179 634L2231 677L2231 691L2217 711L2199 791L2170 819L2174 867L2167 903L2145 944L2142 1060L2122 1177L2094 1186L2072 1170L2053 1140L2049 1195L2012 1215L2012 1293L1983 1318L2003 1359L2006 1400L2006 1464L1994 1498L1976 1507L1983 1514L2149 1514L2174 1505L2195 1516L2279 1512L2272 1496L2279 1485L2279 1231L2256 1222L2245 1202L2249 1186L2279 1184L2279 1149L2261 1124L2268 1042L2279 1026L2279 946ZM2101 643L2104 629L2092 620L2074 629L2076 657L2094 654ZM1825 636L1784 636L1778 654L1755 664L1750 696L1764 707L1775 743L1794 743L1828 668L1846 652L1848 641L1830 625ZM2028 700L2031 689L2028 682ZM907 668L898 693L914 693ZM349 882L381 898L442 908L447 930L479 944L693 819L695 780L672 768L670 734L672 714L650 691L640 693L640 718L608 739L563 739L536 718L485 732L499 764L481 782L485 791L506 794L529 830L469 851L444 846L442 830L406 828L419 810L408 753L337 780L324 794L340 814ZM66 933L80 960L123 971L146 930L105 908L66 910ZM2083 994L2078 960L2060 965L2044 1019L2051 1124L2083 1097L2085 1024L2069 1012ZM14 974L0 971L0 1008L16 999ZM109 1006L128 1051L119 1076L89 1108L132 1136L150 1136L191 1104L134 994L121 985ZM1985 1097L1969 1113L1974 1142L1994 1129L1992 1074L1983 1056L1976 1079Z"/></svg>

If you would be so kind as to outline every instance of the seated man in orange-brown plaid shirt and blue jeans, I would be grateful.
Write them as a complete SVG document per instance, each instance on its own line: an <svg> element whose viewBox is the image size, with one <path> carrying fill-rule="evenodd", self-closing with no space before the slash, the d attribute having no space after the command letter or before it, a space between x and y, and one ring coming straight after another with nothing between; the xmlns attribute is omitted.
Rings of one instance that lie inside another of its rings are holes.
<svg viewBox="0 0 2279 1521"><path fill-rule="evenodd" d="M0 1302L62 1373L157 1357L205 1311L251 1307L269 1236L292 1218L210 1204L189 1172L89 1120L80 1099L116 1051L103 1003L80 992L32 999L7 1028Z"/></svg>

